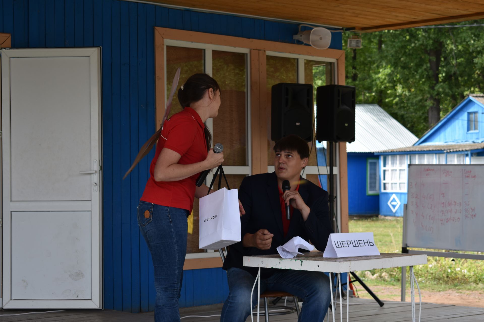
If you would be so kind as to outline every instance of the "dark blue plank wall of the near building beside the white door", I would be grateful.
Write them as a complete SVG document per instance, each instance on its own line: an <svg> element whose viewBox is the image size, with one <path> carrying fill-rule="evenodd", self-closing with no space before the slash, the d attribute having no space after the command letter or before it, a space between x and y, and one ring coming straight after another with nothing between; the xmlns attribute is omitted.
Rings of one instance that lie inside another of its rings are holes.
<svg viewBox="0 0 484 322"><path fill-rule="evenodd" d="M140 146L155 131L153 27L292 43L295 24L119 0L0 0L0 32L13 48L102 47L104 307L154 308L151 255L140 236L136 206L153 151L122 181ZM330 48L341 49L341 33ZM180 306L227 297L221 268L185 271Z"/></svg>

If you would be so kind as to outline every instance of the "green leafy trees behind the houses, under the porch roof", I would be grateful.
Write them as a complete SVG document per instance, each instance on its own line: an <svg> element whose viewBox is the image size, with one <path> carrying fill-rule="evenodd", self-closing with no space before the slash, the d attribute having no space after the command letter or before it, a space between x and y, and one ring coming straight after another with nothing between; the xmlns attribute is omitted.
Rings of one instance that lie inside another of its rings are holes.
<svg viewBox="0 0 484 322"><path fill-rule="evenodd" d="M484 20L454 26L484 24ZM468 94L484 92L484 26L363 33L346 48L346 84L357 104L378 104L417 137ZM429 109L434 106L434 120Z"/></svg>

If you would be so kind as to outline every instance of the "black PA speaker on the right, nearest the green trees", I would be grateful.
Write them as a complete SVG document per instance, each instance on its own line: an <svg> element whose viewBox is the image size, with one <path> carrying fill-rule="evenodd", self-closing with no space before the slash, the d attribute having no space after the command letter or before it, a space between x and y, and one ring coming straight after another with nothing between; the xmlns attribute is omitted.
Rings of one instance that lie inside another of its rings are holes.
<svg viewBox="0 0 484 322"><path fill-rule="evenodd" d="M355 87L319 86L316 89L316 140L355 140Z"/></svg>

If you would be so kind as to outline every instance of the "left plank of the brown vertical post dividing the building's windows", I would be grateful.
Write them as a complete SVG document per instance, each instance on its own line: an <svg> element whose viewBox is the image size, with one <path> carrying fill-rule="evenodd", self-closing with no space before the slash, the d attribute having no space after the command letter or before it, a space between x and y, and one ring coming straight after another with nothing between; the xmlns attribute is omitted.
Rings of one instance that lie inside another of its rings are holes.
<svg viewBox="0 0 484 322"><path fill-rule="evenodd" d="M259 51L250 50L250 129L251 129L251 173L260 173L260 104L259 104Z"/></svg>

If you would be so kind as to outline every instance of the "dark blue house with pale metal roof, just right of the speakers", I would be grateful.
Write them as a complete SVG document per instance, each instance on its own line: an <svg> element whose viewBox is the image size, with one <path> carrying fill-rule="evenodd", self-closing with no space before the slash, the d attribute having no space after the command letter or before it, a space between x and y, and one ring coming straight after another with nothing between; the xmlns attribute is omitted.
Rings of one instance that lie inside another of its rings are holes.
<svg viewBox="0 0 484 322"><path fill-rule="evenodd" d="M348 213L378 214L379 163L374 152L397 149L418 138L377 104L356 105L356 140L347 143Z"/></svg>

